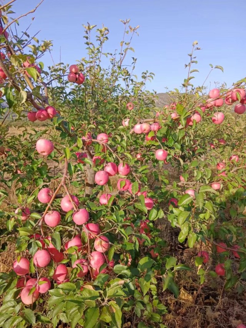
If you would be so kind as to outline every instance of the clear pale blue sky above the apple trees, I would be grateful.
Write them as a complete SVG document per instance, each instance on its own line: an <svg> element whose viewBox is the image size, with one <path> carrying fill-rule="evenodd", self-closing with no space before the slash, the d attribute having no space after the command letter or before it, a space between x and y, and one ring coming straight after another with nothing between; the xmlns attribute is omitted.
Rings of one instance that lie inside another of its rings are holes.
<svg viewBox="0 0 246 328"><path fill-rule="evenodd" d="M13 4L16 14L27 12L39 0L17 0ZM108 51L119 49L123 24L119 19L131 18L131 25L139 28L139 37L133 40L137 57L136 74L144 70L155 73L149 90L165 92L179 88L187 76L184 64L188 62L193 41L199 42L202 50L197 51L200 71L196 85L202 84L209 64L221 65L224 73L215 70L206 85L226 82L230 86L245 77L245 22L246 0L45 0L34 14L21 20L21 27L28 26L30 32L41 30L39 40L52 40L52 56L55 62L73 64L85 56L82 24L89 22L110 30ZM131 58L130 58L131 59ZM129 59L129 60L130 60ZM45 65L51 64L49 56Z"/></svg>

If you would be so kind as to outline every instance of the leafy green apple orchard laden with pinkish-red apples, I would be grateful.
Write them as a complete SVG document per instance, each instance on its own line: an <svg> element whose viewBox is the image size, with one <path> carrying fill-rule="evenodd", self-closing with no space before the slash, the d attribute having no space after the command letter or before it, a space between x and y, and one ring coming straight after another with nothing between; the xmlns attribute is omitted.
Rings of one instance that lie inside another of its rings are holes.
<svg viewBox="0 0 246 328"><path fill-rule="evenodd" d="M195 87L194 42L181 92L157 108L129 20L115 53L88 24L87 57L45 67L51 41L18 30L13 9L0 24L1 256L13 256L0 326L164 328L182 272L245 291L246 79Z"/></svg>

